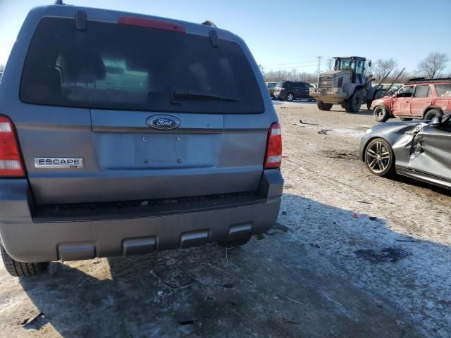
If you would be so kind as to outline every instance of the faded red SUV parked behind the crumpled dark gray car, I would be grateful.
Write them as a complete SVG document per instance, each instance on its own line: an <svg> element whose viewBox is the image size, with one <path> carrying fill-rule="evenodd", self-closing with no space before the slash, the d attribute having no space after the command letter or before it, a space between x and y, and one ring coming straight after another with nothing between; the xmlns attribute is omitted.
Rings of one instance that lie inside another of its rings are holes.
<svg viewBox="0 0 451 338"><path fill-rule="evenodd" d="M451 78L412 80L392 96L374 100L371 109L378 122L389 118L431 120L451 111Z"/></svg>

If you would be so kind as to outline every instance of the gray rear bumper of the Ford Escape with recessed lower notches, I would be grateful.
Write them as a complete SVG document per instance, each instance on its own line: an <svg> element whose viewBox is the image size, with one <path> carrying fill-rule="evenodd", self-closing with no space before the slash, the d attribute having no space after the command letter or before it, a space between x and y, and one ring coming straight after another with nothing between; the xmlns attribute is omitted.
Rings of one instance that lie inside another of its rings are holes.
<svg viewBox="0 0 451 338"><path fill-rule="evenodd" d="M278 217L283 178L265 170L259 199L203 211L34 219L27 180L0 180L0 239L16 261L73 261L187 248L259 234Z"/></svg>

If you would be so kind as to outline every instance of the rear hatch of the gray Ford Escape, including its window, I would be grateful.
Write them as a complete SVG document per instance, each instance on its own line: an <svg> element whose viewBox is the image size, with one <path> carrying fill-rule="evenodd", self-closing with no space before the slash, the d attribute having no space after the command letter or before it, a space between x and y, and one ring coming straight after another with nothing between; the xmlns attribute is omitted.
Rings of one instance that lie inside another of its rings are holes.
<svg viewBox="0 0 451 338"><path fill-rule="evenodd" d="M256 191L271 123L242 46L117 21L37 26L16 123L37 204Z"/></svg>

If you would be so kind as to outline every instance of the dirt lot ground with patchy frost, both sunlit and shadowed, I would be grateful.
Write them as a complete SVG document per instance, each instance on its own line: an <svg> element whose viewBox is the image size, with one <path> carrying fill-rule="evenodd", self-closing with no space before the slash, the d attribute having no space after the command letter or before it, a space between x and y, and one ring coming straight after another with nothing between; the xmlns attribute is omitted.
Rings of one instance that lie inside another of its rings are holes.
<svg viewBox="0 0 451 338"><path fill-rule="evenodd" d="M52 263L40 278L1 267L0 336L451 337L451 194L369 174L368 111L275 105L273 230L240 249Z"/></svg>

